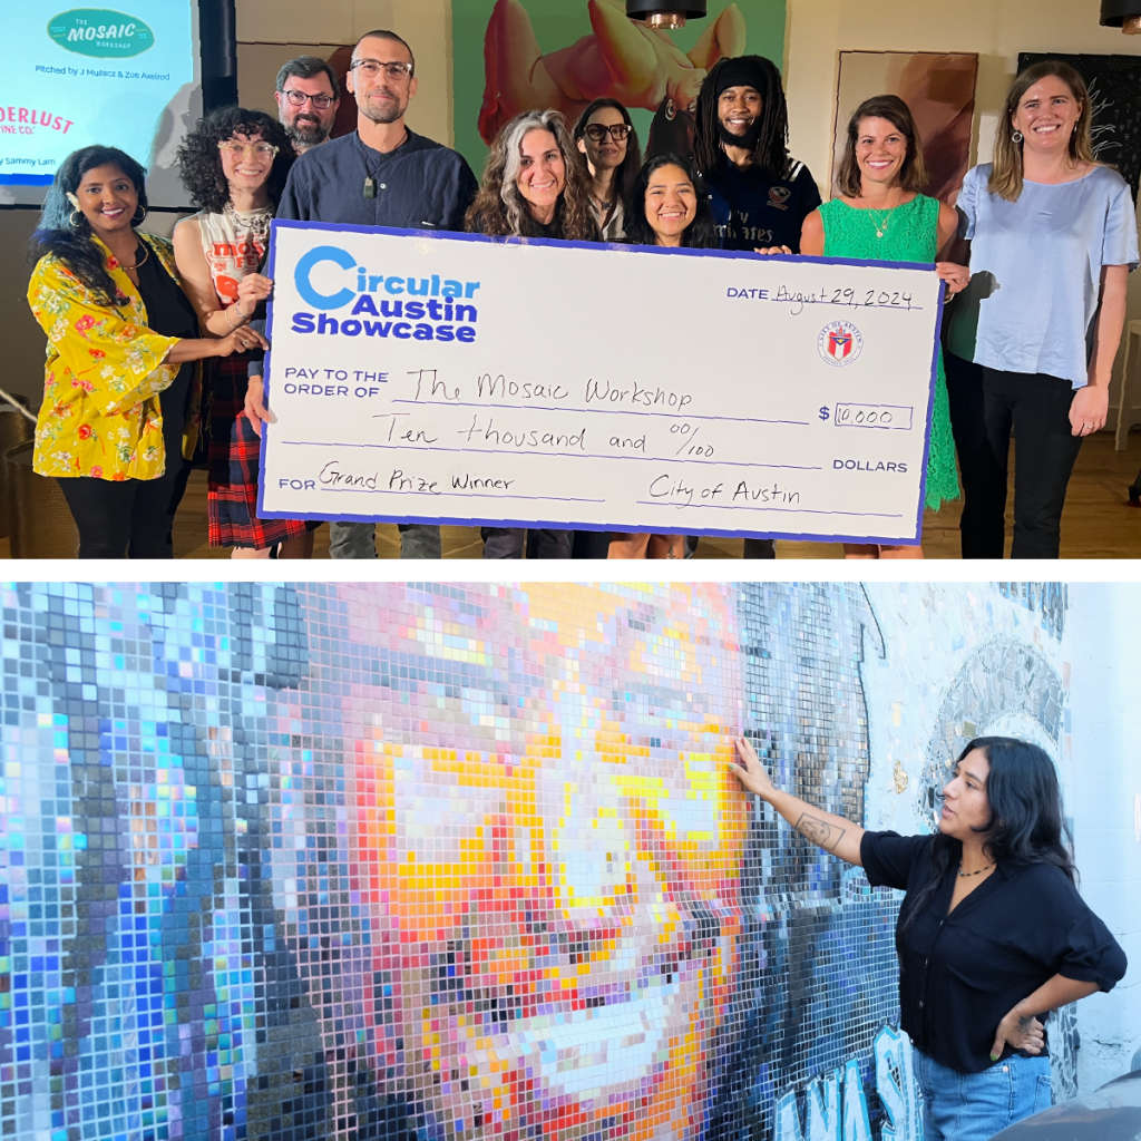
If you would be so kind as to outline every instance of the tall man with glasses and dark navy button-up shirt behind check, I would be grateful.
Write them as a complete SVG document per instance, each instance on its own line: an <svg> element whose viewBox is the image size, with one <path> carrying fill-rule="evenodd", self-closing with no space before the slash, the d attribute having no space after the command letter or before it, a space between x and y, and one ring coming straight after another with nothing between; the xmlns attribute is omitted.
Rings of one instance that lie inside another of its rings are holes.
<svg viewBox="0 0 1141 1141"><path fill-rule="evenodd" d="M404 123L416 94L412 49L395 32L367 32L347 76L357 129L301 155L290 171L278 218L348 226L462 230L476 194L463 156ZM259 394L258 394L259 395ZM260 400L246 414L260 419ZM331 523L334 559L375 558L371 523ZM400 558L439 558L439 527L400 525Z"/></svg>

